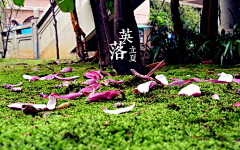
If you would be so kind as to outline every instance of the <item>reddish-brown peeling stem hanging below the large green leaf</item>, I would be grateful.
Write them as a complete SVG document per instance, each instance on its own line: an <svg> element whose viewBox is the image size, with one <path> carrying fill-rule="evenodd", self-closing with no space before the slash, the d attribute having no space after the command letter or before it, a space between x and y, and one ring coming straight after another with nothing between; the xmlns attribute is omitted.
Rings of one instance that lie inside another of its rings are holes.
<svg viewBox="0 0 240 150"><path fill-rule="evenodd" d="M71 20L72 20L72 26L75 32L76 42L77 42L76 56L78 60L84 61L86 58L86 54L84 53L84 51L86 51L85 33L82 31L82 29L79 26L75 0L73 2L74 2L74 9L73 9L73 12L71 12ZM84 42L82 42L82 36L83 36Z"/></svg>

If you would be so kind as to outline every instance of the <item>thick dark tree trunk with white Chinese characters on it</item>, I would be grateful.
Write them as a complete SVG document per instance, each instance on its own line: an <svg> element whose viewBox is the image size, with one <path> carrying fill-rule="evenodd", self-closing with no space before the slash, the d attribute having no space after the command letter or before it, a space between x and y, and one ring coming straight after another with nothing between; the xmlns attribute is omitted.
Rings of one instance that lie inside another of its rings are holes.
<svg viewBox="0 0 240 150"><path fill-rule="evenodd" d="M111 59L117 73L130 75L130 69L142 73L139 33L132 0L114 1L114 40L111 44Z"/></svg>

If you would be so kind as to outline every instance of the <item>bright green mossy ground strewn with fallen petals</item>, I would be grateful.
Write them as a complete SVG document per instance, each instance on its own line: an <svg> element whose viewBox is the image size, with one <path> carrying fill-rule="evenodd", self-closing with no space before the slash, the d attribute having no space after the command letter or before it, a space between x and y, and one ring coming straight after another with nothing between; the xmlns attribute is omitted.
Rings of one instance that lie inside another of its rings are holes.
<svg viewBox="0 0 240 150"><path fill-rule="evenodd" d="M0 85L23 82L22 92L12 92L0 88L0 146L1 149L239 149L240 148L240 108L232 107L240 102L236 94L239 84L232 83L194 83L201 87L201 96L180 96L178 92L185 87L155 85L146 94L133 94L140 83L135 76L104 76L104 79L123 79L116 85L101 86L96 92L119 89L126 98L109 101L87 102L86 96L74 100L58 99L60 105L70 102L70 107L45 112L36 116L26 115L21 110L7 107L9 103L28 102L47 104L48 99L39 96L58 93L65 95L77 92L84 86L83 75L90 70L99 70L97 65L61 64L49 65L49 61L0 60ZM21 64L26 63L26 64ZM73 72L66 77L80 76L69 87L59 89L54 85L60 80L33 81L23 79L23 74L44 76L59 72L64 67L72 67ZM86 68L94 66L94 69ZM41 70L34 72L33 68ZM168 69L166 69L168 68ZM207 72L213 71L213 74ZM110 72L108 70L107 72ZM217 65L166 65L155 75L164 74L167 79L191 78L218 79L215 73L237 74L239 66ZM190 76L187 76L190 75ZM168 80L170 81L170 80ZM144 81L145 82L145 81ZM171 82L171 81L170 81ZM220 100L211 98L218 94ZM118 101L136 107L124 114L105 114L102 107L114 109ZM140 112L140 113L139 113ZM108 126L104 124L110 121Z"/></svg>

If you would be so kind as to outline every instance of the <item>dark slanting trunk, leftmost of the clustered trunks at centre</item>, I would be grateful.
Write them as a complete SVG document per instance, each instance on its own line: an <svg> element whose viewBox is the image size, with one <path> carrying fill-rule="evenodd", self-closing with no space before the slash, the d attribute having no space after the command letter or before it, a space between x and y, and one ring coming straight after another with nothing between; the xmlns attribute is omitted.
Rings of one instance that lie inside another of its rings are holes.
<svg viewBox="0 0 240 150"><path fill-rule="evenodd" d="M90 0L90 4L92 7L92 13L96 28L96 36L98 41L99 55L100 55L100 68L108 67L111 65L110 57L109 57L109 45L106 36L106 30L104 26L103 16L100 9L99 0ZM109 31L107 31L109 32Z"/></svg>

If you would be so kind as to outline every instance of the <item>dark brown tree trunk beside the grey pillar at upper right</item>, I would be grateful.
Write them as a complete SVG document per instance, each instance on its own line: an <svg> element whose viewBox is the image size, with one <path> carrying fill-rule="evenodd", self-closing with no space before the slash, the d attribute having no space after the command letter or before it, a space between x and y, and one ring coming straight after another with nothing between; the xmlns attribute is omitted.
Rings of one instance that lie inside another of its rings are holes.
<svg viewBox="0 0 240 150"><path fill-rule="evenodd" d="M214 40L218 32L218 0L203 0L201 34Z"/></svg>

